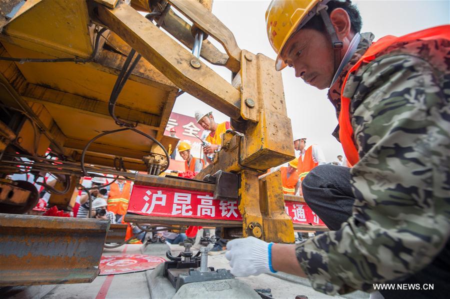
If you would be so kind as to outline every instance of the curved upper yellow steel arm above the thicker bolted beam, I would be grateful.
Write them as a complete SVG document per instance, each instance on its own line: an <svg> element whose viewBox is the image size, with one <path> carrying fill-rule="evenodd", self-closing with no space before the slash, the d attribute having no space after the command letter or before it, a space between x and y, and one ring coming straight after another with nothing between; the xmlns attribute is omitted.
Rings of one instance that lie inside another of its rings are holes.
<svg viewBox="0 0 450 299"><path fill-rule="evenodd" d="M223 46L229 56L227 63L231 68L235 69L240 65L240 48L234 35L208 8L197 1L168 0L168 2Z"/></svg>

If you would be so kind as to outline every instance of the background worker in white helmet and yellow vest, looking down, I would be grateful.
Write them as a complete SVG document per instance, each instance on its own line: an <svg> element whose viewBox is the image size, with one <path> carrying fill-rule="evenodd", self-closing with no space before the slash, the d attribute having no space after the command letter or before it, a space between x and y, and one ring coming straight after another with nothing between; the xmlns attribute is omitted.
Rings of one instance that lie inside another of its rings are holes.
<svg viewBox="0 0 450 299"><path fill-rule="evenodd" d="M203 147L204 158L206 162L211 163L212 160L208 157L208 154L213 154L215 151L220 150L220 145L222 144L222 135L231 126L229 121L224 121L217 124L214 121L212 112L203 113L201 111L195 111L195 119L197 123L204 129L210 131L209 135L206 136L206 141L210 145Z"/></svg>

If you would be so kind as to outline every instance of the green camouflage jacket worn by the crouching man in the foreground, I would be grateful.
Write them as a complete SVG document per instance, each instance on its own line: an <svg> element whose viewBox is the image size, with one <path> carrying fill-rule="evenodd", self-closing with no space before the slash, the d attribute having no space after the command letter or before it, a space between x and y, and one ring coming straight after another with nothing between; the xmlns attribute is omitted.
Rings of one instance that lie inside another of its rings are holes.
<svg viewBox="0 0 450 299"><path fill-rule="evenodd" d="M337 115L342 80L372 38L362 34L329 90ZM328 295L402 281L449 240L450 41L391 45L349 76L344 95L359 154L352 216L296 247L313 288Z"/></svg>

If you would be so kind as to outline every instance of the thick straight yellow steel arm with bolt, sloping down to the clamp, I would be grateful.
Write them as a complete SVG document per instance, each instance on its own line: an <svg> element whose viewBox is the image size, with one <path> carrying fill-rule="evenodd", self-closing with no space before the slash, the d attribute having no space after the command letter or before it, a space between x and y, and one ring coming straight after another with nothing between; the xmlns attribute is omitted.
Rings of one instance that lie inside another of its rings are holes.
<svg viewBox="0 0 450 299"><path fill-rule="evenodd" d="M132 7L99 5L98 18L182 90L240 118L240 92Z"/></svg>

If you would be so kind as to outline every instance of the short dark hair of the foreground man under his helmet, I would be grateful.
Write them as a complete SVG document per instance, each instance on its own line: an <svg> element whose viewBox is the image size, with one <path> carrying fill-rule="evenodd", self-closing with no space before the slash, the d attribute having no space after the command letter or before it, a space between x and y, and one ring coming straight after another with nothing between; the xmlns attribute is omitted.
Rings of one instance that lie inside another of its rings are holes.
<svg viewBox="0 0 450 299"><path fill-rule="evenodd" d="M356 5L351 4L351 1L346 0L345 2L341 1L329 1L326 3L328 6L328 9L326 10L328 12L328 15L336 8L342 8L350 17L350 30L353 31L353 33L359 33L361 31L362 27L362 19L361 15L359 14L359 10L356 7ZM306 24L303 25L303 28L308 29L315 29L320 32L326 32L325 24L323 23L322 18L320 15L314 15Z"/></svg>

